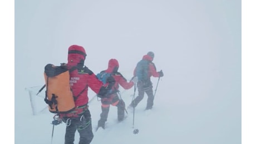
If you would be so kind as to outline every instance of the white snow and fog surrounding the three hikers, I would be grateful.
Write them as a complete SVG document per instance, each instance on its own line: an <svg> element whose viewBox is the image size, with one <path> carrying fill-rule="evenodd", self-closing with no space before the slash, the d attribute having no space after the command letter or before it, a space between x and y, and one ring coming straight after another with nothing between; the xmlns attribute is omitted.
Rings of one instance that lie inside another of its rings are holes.
<svg viewBox="0 0 256 144"><path fill-rule="evenodd" d="M241 143L240 29L240 1L15 1L15 143L51 143L53 114L32 115L25 89L40 88L44 66L66 62L72 44L85 48L85 65L94 73L115 58L130 79L149 51L164 71L154 108L144 111L145 95L135 116L129 112L117 124L112 106L106 130L94 131L92 144ZM157 78L152 81L155 90ZM122 91L126 105L133 90ZM89 91L90 99L94 95ZM45 105L33 98L36 109ZM93 128L100 105L90 102ZM55 126L53 143L63 143L64 135L65 124Z"/></svg>

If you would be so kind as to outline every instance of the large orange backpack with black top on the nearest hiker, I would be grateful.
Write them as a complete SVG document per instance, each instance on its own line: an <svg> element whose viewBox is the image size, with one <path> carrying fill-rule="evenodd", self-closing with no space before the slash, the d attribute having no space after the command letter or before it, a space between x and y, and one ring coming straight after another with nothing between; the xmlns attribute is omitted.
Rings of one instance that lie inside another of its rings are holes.
<svg viewBox="0 0 256 144"><path fill-rule="evenodd" d="M75 67L72 68L75 70ZM75 109L75 101L70 87L70 70L67 66L45 66L45 102L52 113L66 114Z"/></svg>

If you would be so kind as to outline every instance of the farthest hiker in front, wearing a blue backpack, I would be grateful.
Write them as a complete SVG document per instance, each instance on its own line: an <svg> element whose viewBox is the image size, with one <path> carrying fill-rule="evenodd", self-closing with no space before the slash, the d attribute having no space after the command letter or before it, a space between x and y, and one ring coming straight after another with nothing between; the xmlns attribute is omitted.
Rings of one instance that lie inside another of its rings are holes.
<svg viewBox="0 0 256 144"><path fill-rule="evenodd" d="M162 70L158 72L156 71L156 66L152 62L154 56L155 54L153 52L148 52L136 65L134 76L137 76L138 78L137 89L139 94L128 106L129 109L136 107L139 104L139 102L143 99L145 92L147 94L146 110L152 109L154 104L154 94L150 78L151 76L156 78L164 76Z"/></svg>

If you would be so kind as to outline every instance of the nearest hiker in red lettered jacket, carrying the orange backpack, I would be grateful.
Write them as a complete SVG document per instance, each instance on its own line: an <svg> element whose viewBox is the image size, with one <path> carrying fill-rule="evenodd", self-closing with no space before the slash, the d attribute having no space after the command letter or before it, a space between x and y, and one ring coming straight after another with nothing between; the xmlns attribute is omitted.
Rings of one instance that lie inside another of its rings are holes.
<svg viewBox="0 0 256 144"><path fill-rule="evenodd" d="M65 144L73 144L76 130L80 134L79 144L88 144L92 141L91 114L88 109L88 87L103 97L115 84L115 79L110 76L107 85L97 79L96 75L84 66L86 58L85 49L79 45L68 48L67 68L70 71L70 85L75 100L75 110L68 114L60 114L60 119L66 123Z"/></svg>

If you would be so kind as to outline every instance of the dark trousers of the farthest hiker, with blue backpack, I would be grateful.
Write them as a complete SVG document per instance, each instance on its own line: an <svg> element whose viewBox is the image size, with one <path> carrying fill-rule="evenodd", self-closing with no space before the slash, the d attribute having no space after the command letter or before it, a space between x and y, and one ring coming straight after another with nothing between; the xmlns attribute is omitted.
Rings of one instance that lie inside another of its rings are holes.
<svg viewBox="0 0 256 144"><path fill-rule="evenodd" d="M138 81L137 83L138 96L131 102L131 105L136 107L139 102L143 99L144 94L147 94L147 105L146 109L152 109L154 105L154 94L153 94L153 86L151 81Z"/></svg>

